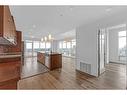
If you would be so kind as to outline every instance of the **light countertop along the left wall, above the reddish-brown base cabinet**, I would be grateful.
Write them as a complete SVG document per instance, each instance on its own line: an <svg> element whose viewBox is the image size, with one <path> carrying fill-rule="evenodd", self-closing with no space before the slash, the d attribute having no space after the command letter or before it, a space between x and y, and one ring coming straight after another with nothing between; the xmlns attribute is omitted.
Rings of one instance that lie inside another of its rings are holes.
<svg viewBox="0 0 127 95"><path fill-rule="evenodd" d="M21 57L21 52L0 53L0 58L17 58L17 57Z"/></svg>

